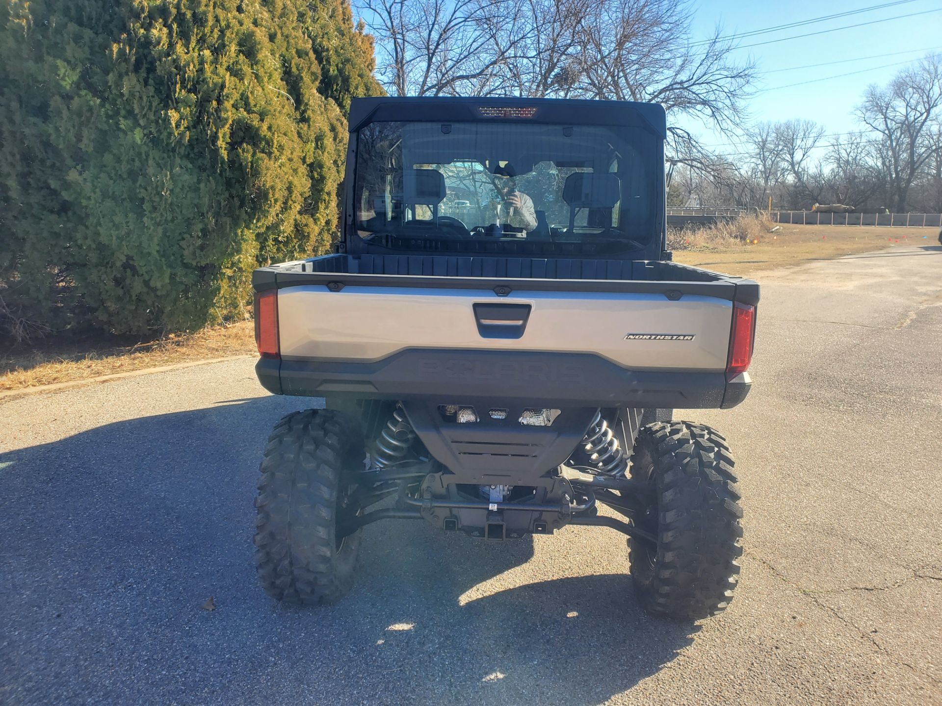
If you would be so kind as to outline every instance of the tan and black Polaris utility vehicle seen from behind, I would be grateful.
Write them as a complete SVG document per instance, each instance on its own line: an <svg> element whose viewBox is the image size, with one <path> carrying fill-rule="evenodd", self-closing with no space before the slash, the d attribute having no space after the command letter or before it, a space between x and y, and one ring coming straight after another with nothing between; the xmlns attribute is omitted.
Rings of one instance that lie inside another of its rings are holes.
<svg viewBox="0 0 942 706"><path fill-rule="evenodd" d="M733 457L671 420L749 392L759 288L671 262L665 135L655 104L353 101L335 253L253 276L259 380L326 400L262 460L268 594L341 598L370 522L575 524L627 536L651 613L723 610Z"/></svg>

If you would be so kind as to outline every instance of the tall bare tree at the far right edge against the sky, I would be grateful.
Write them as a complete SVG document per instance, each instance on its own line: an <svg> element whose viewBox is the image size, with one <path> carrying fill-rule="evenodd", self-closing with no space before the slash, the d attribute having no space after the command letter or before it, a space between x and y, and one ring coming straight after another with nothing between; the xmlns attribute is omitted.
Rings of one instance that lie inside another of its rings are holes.
<svg viewBox="0 0 942 706"><path fill-rule="evenodd" d="M870 86L857 117L880 136L890 208L905 211L909 189L938 149L934 125L942 107L942 55L901 71L886 88Z"/></svg>

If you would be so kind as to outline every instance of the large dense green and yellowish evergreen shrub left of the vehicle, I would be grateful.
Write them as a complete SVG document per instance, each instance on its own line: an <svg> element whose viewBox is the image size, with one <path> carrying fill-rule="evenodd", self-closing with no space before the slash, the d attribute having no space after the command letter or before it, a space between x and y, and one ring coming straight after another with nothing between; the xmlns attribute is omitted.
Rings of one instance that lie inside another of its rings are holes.
<svg viewBox="0 0 942 706"><path fill-rule="evenodd" d="M242 315L330 245L371 50L347 0L0 0L0 329Z"/></svg>

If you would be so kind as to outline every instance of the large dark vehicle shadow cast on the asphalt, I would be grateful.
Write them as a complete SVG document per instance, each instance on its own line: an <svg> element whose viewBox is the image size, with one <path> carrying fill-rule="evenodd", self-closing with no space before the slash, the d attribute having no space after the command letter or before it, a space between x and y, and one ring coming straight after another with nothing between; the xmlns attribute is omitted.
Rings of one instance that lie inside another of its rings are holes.
<svg viewBox="0 0 942 706"><path fill-rule="evenodd" d="M535 549L378 522L345 600L269 600L252 564L258 459L311 402L224 401L0 454L8 698L590 704L690 645L695 624L642 612L626 557L625 573L592 573L594 536L574 528Z"/></svg>

